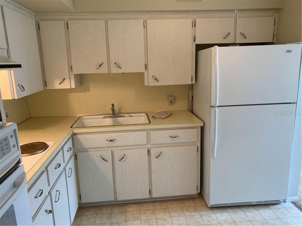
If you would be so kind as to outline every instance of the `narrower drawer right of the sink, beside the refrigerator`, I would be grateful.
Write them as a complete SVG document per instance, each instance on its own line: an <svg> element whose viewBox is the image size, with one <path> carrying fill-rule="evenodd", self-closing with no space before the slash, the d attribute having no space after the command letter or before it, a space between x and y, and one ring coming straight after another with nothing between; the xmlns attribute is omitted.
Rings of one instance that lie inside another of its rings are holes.
<svg viewBox="0 0 302 226"><path fill-rule="evenodd" d="M150 132L151 143L196 142L197 129L157 130Z"/></svg>

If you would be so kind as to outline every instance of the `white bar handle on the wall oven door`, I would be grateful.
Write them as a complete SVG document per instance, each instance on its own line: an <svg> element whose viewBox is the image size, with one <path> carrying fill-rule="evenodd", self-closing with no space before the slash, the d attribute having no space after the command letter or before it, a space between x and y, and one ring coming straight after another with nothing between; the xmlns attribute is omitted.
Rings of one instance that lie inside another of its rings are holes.
<svg viewBox="0 0 302 226"><path fill-rule="evenodd" d="M17 188L11 196L2 204L0 207L0 213L4 214L8 208L13 204L13 202L17 199L20 193L23 191L24 186L26 185L26 173L23 172L15 181L14 187Z"/></svg>

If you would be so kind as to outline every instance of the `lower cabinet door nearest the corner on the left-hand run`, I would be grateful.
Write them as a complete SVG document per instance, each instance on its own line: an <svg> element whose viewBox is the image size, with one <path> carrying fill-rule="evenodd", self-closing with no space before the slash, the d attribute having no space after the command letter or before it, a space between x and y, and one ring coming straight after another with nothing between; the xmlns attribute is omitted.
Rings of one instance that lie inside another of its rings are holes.
<svg viewBox="0 0 302 226"><path fill-rule="evenodd" d="M68 203L70 211L70 224L72 224L73 219L76 215L76 210L78 209L78 193L76 190L76 174L75 174L75 161L74 157L71 156L69 162L64 167L66 181L67 181L67 191L68 191Z"/></svg>

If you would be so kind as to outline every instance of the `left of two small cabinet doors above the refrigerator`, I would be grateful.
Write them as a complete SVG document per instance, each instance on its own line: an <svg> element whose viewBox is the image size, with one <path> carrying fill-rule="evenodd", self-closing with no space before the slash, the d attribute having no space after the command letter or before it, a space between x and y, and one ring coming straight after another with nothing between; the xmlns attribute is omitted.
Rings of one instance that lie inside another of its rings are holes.
<svg viewBox="0 0 302 226"><path fill-rule="evenodd" d="M234 18L197 18L196 44L234 42Z"/></svg>

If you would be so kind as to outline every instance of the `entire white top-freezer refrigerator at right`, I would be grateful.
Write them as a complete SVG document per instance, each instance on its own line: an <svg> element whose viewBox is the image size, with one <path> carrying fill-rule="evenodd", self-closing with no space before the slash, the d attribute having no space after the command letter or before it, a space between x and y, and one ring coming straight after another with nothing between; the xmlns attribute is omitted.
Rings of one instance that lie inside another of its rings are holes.
<svg viewBox="0 0 302 226"><path fill-rule="evenodd" d="M208 206L287 199L300 58L301 44L197 52L193 114L204 122Z"/></svg>

